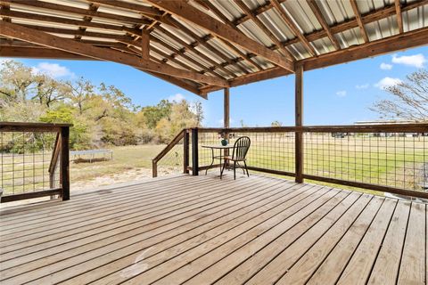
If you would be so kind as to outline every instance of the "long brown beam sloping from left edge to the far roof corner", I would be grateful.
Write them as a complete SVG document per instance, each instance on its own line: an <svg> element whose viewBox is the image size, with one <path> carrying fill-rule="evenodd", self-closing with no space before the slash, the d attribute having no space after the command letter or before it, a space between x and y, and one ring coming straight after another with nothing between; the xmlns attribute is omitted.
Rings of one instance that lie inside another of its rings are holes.
<svg viewBox="0 0 428 285"><path fill-rule="evenodd" d="M2 23L0 35L4 37L18 38L29 43L44 45L49 48L59 49L69 53L77 53L86 57L91 57L103 61L115 61L122 64L127 64L138 69L149 70L162 74L167 74L174 77L186 78L196 82L204 82L210 85L228 86L226 80L217 77L208 77L195 72L184 69L176 69L168 65L162 65L152 61L144 61L138 57L128 54L121 54L94 45L79 43L75 40L56 37L45 32L37 31L36 29L25 28L17 24Z"/></svg>

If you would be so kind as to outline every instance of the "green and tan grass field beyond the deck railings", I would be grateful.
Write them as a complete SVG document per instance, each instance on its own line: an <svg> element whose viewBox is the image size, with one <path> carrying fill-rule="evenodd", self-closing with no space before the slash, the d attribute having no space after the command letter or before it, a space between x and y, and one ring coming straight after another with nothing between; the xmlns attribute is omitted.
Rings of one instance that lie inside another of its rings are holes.
<svg viewBox="0 0 428 285"><path fill-rule="evenodd" d="M218 143L217 134L202 137L202 144ZM248 163L279 171L294 171L294 137L259 135L251 138ZM140 145L111 148L113 159L95 163L70 164L72 189L126 182L152 175L152 158L164 145ZM311 135L305 139L305 173L364 183L377 183L419 190L428 164L428 137L350 137L332 138ZM39 154L39 157L41 155ZM200 149L200 166L209 165L211 152ZM14 155L2 157L2 182L6 191L13 182L15 193L31 191L46 180L50 153L33 163L31 158ZM25 159L25 161L24 161ZM13 160L13 169L11 168ZM46 162L47 161L47 162ZM183 146L177 145L159 163L159 174L180 173ZM13 170L13 171L12 171ZM39 178L34 180L34 176ZM47 176L48 178L48 176ZM48 179L47 179L48 181ZM22 187L21 187L22 184ZM43 186L43 185L42 185Z"/></svg>

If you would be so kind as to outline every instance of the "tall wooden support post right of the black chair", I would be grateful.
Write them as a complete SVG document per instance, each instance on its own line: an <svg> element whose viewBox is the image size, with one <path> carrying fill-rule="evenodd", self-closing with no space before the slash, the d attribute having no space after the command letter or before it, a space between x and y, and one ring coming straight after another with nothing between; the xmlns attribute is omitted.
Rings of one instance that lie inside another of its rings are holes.
<svg viewBox="0 0 428 285"><path fill-rule="evenodd" d="M295 116L296 126L303 126L303 66L296 67L295 82ZM295 171L296 183L303 183L303 132L301 130L295 133Z"/></svg>

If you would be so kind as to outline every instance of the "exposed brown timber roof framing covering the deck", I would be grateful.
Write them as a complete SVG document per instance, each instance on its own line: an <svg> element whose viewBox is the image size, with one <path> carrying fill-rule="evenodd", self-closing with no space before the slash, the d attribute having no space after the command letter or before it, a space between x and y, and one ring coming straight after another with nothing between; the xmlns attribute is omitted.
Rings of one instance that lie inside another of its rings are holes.
<svg viewBox="0 0 428 285"><path fill-rule="evenodd" d="M82 1L86 1L86 8ZM428 0L408 4L396 0L363 13L364 6L358 2L358 9L357 1L350 0L350 14L355 14L355 18L333 23L325 14L325 2L306 0L299 4L306 4L305 9L315 15L314 20L322 27L309 32L308 28L299 26L301 20L293 14L295 8L290 9L292 2L285 3L285 0L267 1L257 7L241 0L227 0L240 9L241 16L235 18L225 12L226 5L221 1L143 1L136 4L81 0L79 5L71 5L62 0L58 0L59 4L45 0L0 0L0 16L14 25L8 26L5 33L3 27L7 23L2 22L0 34L31 43L0 38L1 55L116 61L195 94L206 94L225 86L292 74L296 64L317 69L428 44L426 27L404 32L409 20L404 14L428 5ZM278 36L278 31L266 20L268 12L278 15L292 37ZM375 40L373 31L368 30L370 24L389 17L396 20L397 35ZM274 45L252 37L249 24L257 25ZM17 27L15 33L10 27ZM343 41L342 33L353 28L360 30L364 43L350 46ZM27 33L43 34L41 38L46 41L28 37L32 35ZM319 40L325 39L331 47L323 50ZM295 53L297 45L300 53ZM90 53L86 53L86 49Z"/></svg>

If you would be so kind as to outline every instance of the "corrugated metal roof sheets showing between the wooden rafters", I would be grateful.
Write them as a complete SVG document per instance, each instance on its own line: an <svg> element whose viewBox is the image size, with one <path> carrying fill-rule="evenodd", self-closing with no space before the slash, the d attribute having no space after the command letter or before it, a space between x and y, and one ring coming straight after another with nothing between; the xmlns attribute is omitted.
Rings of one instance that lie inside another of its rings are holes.
<svg viewBox="0 0 428 285"><path fill-rule="evenodd" d="M326 37L326 35L323 37L317 36L317 34L320 35L320 33L323 32L323 26L317 20L316 15L312 12L307 1L278 1L281 3L280 5L284 13L291 18L301 34L304 35L304 37L312 38L309 42L316 51L316 55L335 51L330 38ZM409 4L419 3L418 1L421 0L400 0L400 4L402 7L407 7ZM62 7L89 11L91 4L89 0L38 0L33 3L32 5L31 2L21 4L12 2L10 4L10 11L12 13L24 12L29 14L29 17L12 14L12 16L9 17L12 19L12 23L37 26L41 30L43 30L43 28L66 28L69 29L66 33L65 30L64 33L57 33L55 30L54 35L68 38L73 38L73 35L70 35L72 31L77 32L79 30L79 35L82 39L105 42L106 44L123 44L124 51L129 53L129 45L135 45L136 51L140 48L137 42L136 44L133 43L138 39L136 36L140 33L138 30L145 27L144 24L136 23L146 21L152 22L152 37L157 39L157 42L152 41L151 43L153 48L172 56L178 63L165 59L155 52L151 52L152 56L159 61L165 61L167 64L179 69L186 69L186 66L198 70L199 72L206 72L203 70L210 69L209 73L214 76L231 79L259 71L256 67L257 65L262 69L270 69L276 66L275 62L270 62L256 54L245 51L241 46L235 44L232 44L232 48L230 45L226 45L223 40L210 35L210 33L203 28L186 22L175 15L170 16L169 14L164 14L164 12L159 10L154 10L159 11L158 18L156 18L153 17L153 15L144 14L144 12L132 10L128 7L120 7L120 5L98 4L96 11L104 13L104 15L95 15L88 20L84 17L84 14L79 12L62 11ZM61 6L58 6L57 9L41 8L38 7L36 3L56 4ZM152 4L146 3L144 0L122 0L117 3L137 4L145 8L152 8ZM250 17L245 17L246 13L240 5L235 3L235 0L210 1L210 4L221 14L211 11L206 4L203 4L203 0L191 0L189 3L197 7L199 11L205 12L217 20L226 18L233 23L239 20L240 24L234 28L237 28L245 36L250 37L260 44L275 49L276 53L281 53L285 56L286 51L288 51L296 61L311 57L308 48L302 45L299 38L296 37L297 35L292 31L292 28L284 21L281 13L266 0L245 0L242 4L246 5L251 10L265 28L268 28L269 33L266 33L260 28L259 24L254 20L249 19ZM315 0L315 3L328 26L336 28L333 37L338 40L341 48L347 48L352 45L363 45L365 43L361 30L355 23L355 14L349 0ZM370 20L368 18L368 20L365 20L365 29L370 41L391 37L399 33L397 16L393 11L394 0L360 0L357 4L358 11L363 18L367 18L374 12L382 11L383 9L388 10L384 17L381 15L378 17L379 19L376 20ZM111 16L107 17L105 14ZM31 15L37 15L38 17L53 16L60 20L86 20L94 24L111 25L111 28L101 28L96 25L88 24L88 27L85 26L86 28L81 29L78 25L73 23L43 20ZM176 20L184 29L174 27L173 25L171 26L169 21L162 20L161 16L167 18L172 17L171 19ZM120 20L122 19L120 17L122 17L123 20ZM243 17L245 17L245 20L243 20ZM403 11L402 17L405 32L427 27L428 4L424 3L415 9ZM347 28L337 28L344 26L347 26ZM165 34L157 27L165 29L169 35ZM93 34L85 35L85 31ZM272 38L272 35L275 38ZM114 36L118 37L117 40L114 39ZM281 46L276 46L278 41L281 43ZM183 44L183 42L185 44ZM189 45L191 45L192 48L188 48ZM115 48L117 49L118 47L116 46ZM241 54L245 54L245 58L242 58Z"/></svg>

